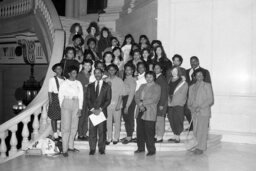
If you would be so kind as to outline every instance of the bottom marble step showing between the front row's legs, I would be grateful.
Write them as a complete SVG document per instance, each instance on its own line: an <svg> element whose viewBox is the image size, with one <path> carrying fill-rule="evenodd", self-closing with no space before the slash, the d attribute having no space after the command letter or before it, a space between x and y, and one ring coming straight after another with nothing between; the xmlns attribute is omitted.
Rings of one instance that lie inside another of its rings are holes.
<svg viewBox="0 0 256 171"><path fill-rule="evenodd" d="M221 142L221 135L209 134L207 146L208 148L216 147ZM75 141L75 148L80 150L89 150L88 141ZM137 149L136 143L122 144L118 143L113 145L112 143L106 146L106 150L117 150L117 151L134 151ZM163 143L156 143L157 151L186 151L185 140L181 140L181 143L169 143L164 140Z"/></svg>

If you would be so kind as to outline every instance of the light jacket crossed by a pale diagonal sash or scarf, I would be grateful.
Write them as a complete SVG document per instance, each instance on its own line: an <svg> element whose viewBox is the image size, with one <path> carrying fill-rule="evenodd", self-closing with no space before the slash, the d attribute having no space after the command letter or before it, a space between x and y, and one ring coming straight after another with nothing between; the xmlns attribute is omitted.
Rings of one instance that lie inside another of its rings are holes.
<svg viewBox="0 0 256 171"><path fill-rule="evenodd" d="M180 81L174 90L172 98L168 100L168 106L184 106L187 101L188 83Z"/></svg>

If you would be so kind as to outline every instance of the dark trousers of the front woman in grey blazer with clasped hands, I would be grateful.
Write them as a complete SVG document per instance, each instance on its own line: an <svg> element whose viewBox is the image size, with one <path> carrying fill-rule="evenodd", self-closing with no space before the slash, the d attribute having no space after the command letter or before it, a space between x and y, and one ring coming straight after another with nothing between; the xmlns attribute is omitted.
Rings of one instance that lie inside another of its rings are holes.
<svg viewBox="0 0 256 171"><path fill-rule="evenodd" d="M143 113L139 113L137 121L137 146L138 150L144 151L145 144L148 152L156 152L155 147L155 121L145 121L141 119Z"/></svg>

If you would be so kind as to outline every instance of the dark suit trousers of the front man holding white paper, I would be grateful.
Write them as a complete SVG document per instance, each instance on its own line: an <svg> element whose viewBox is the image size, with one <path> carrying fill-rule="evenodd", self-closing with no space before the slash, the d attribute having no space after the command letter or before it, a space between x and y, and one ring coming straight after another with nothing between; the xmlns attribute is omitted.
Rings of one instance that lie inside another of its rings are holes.
<svg viewBox="0 0 256 171"><path fill-rule="evenodd" d="M90 150L96 149L97 135L99 137L98 148L99 150L105 150L106 143L106 121L100 123L99 125L93 126L92 122L89 123L89 145Z"/></svg>

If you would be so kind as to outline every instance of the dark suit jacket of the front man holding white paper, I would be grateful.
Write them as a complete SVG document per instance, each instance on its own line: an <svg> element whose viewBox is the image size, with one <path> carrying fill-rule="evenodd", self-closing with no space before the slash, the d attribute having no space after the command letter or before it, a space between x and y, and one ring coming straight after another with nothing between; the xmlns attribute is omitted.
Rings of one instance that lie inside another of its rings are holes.
<svg viewBox="0 0 256 171"><path fill-rule="evenodd" d="M95 82L88 85L87 88L87 103L89 110L101 108L107 117L107 107L111 103L111 87L108 83L103 81L99 96L96 97Z"/></svg>

